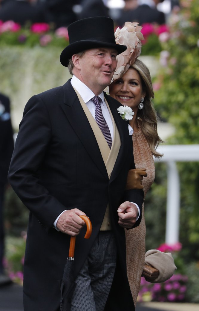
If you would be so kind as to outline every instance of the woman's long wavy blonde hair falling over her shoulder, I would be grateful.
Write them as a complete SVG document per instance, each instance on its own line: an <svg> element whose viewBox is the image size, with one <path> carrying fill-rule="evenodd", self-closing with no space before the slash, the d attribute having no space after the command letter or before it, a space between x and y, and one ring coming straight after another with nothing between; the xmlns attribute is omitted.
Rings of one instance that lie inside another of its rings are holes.
<svg viewBox="0 0 199 311"><path fill-rule="evenodd" d="M137 121L141 127L141 130L146 137L151 153L156 158L162 156L162 154L156 151L160 142L163 142L157 133L157 114L153 107L152 98L154 98L153 85L151 81L151 75L148 67L139 59L136 59L130 67L137 70L141 77L142 89L145 92L144 107L142 110L138 110Z"/></svg>

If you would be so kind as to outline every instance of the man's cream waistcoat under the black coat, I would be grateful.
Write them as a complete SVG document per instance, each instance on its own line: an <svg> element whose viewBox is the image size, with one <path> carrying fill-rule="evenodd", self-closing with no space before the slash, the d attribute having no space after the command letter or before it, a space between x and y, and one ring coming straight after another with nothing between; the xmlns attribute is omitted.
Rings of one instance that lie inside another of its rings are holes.
<svg viewBox="0 0 199 311"><path fill-rule="evenodd" d="M88 121L91 125L91 128L95 134L95 138L96 138L97 143L99 145L99 150L100 150L102 158L104 160L104 164L106 165L108 178L110 179L110 176L111 176L111 173L112 173L113 167L115 165L115 161L117 159L117 155L118 155L118 152L119 152L119 149L121 146L120 135L119 135L119 132L117 130L117 126L115 125L115 121L114 121L114 118L112 116L111 110L108 106L106 99L104 98L105 103L108 107L112 122L113 122L113 130L114 130L113 143L112 143L112 147L110 150L108 147L107 141L104 138L104 135L102 134L98 124L96 123L95 119L93 118L92 114L90 113L89 109L87 108L82 97L80 96L80 94L77 92L77 90L75 88L74 88L74 90L77 94L77 97L80 101L80 104L82 105L82 108L86 114L86 117L88 118ZM109 216L109 205L106 208L104 220L102 222L100 230L111 230L111 223L110 223L110 216Z"/></svg>

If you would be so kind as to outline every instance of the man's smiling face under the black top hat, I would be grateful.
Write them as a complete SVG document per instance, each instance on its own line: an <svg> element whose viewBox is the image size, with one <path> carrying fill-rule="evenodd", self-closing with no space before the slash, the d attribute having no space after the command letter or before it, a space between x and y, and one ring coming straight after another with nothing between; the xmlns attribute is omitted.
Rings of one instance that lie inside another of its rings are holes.
<svg viewBox="0 0 199 311"><path fill-rule="evenodd" d="M99 95L111 83L117 67L117 51L110 48L90 49L79 59L80 80L95 95ZM96 94L98 93L98 94Z"/></svg>

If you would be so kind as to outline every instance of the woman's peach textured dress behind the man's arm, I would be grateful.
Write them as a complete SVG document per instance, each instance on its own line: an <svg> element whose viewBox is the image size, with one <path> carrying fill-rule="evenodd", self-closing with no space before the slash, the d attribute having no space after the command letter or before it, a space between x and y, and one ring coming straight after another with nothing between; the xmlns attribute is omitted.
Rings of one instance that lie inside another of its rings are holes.
<svg viewBox="0 0 199 311"><path fill-rule="evenodd" d="M147 169L146 172L148 175L143 178L142 182L145 197L155 178L153 155L140 127L138 128L138 132L133 133L132 137L135 167ZM145 259L146 227L144 220L144 203L140 225L132 230L125 230L125 233L127 276L134 304L136 304Z"/></svg>

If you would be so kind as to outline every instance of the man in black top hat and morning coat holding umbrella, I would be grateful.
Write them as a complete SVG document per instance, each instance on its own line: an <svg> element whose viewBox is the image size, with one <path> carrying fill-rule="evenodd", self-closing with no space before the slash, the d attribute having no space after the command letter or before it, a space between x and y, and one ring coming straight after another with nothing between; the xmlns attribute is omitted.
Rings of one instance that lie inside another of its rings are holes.
<svg viewBox="0 0 199 311"><path fill-rule="evenodd" d="M108 17L76 21L68 32L60 61L73 77L28 101L9 169L30 210L24 311L60 310L70 236L77 236L71 311L132 311L124 228L139 225L143 191L125 190L135 168L131 129L103 92L126 46L115 43ZM81 215L93 226L89 240Z"/></svg>

